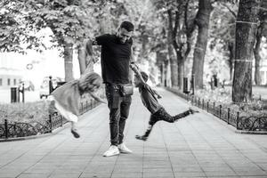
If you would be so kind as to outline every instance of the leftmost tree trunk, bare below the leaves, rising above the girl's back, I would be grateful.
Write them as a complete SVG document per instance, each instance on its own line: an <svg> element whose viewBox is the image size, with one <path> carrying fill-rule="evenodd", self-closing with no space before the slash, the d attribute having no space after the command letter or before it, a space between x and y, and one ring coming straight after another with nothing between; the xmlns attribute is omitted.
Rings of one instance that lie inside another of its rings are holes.
<svg viewBox="0 0 267 178"><path fill-rule="evenodd" d="M65 81L73 80L73 44L64 45L64 64L65 64Z"/></svg>

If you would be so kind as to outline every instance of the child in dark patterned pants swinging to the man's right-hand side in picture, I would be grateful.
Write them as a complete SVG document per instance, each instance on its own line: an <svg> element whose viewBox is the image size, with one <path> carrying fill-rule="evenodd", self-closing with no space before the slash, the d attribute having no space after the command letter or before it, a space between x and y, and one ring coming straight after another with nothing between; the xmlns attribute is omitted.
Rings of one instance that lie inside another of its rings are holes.
<svg viewBox="0 0 267 178"><path fill-rule="evenodd" d="M174 123L178 119L182 117L187 117L190 114L194 114L198 112L198 110L188 109L174 117L170 116L166 109L164 109L163 106L161 106L158 103L158 100L156 96L158 96L158 99L161 98L161 96L153 89L150 88L150 85L147 85L146 82L148 80L148 75L143 72L139 71L138 67L133 63L131 64L131 69L134 70L134 85L135 87L139 88L139 92L141 93L142 103L143 105L150 110L150 121L148 129L146 130L145 134L136 135L135 138L146 141L150 135L150 132L153 128L153 125L155 125L158 121L163 120L169 123Z"/></svg>

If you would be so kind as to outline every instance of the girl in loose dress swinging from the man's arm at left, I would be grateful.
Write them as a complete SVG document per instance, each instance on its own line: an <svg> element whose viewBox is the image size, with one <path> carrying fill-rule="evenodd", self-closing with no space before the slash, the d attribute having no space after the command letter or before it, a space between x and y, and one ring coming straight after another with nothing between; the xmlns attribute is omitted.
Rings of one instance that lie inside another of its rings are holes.
<svg viewBox="0 0 267 178"><path fill-rule="evenodd" d="M93 94L101 86L101 77L97 73L88 73L80 77L78 80L70 81L60 87L56 88L49 100L50 111L56 108L63 117L71 122L71 134L75 138L79 138L80 134L77 132L77 119L79 116L79 103L81 96L84 93L89 93L94 100L106 103L98 96Z"/></svg>

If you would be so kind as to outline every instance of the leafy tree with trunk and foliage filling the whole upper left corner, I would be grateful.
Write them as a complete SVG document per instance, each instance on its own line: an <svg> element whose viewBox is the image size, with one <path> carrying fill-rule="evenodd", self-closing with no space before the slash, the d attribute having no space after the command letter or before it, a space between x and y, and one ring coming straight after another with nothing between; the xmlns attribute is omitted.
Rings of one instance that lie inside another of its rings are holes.
<svg viewBox="0 0 267 178"><path fill-rule="evenodd" d="M20 48L20 45L27 43L27 48L40 51L42 46L40 38L42 37L38 38L34 34L43 28L50 28L53 32L53 47L62 50L65 61L65 80L72 80L74 47L75 45L79 47L85 38L95 33L97 29L97 27L94 28L95 19L101 13L98 9L105 3L104 0L98 2L93 0L15 0L12 3L7 0L1 1L1 8L4 8L4 11L0 12L1 20L13 21L13 23L4 23L4 26L1 26L4 29L3 37L1 36L1 50L23 53L24 49ZM83 57L79 56L79 59ZM81 60L81 69L84 66L85 63Z"/></svg>

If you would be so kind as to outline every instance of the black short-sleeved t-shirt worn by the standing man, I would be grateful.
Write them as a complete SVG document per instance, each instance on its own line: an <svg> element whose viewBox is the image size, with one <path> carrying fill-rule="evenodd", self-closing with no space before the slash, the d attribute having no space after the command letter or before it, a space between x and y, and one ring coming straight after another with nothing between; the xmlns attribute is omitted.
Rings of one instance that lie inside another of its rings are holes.
<svg viewBox="0 0 267 178"><path fill-rule="evenodd" d="M105 34L95 38L101 45L101 70L104 83L128 84L132 38L125 44L116 35Z"/></svg>

